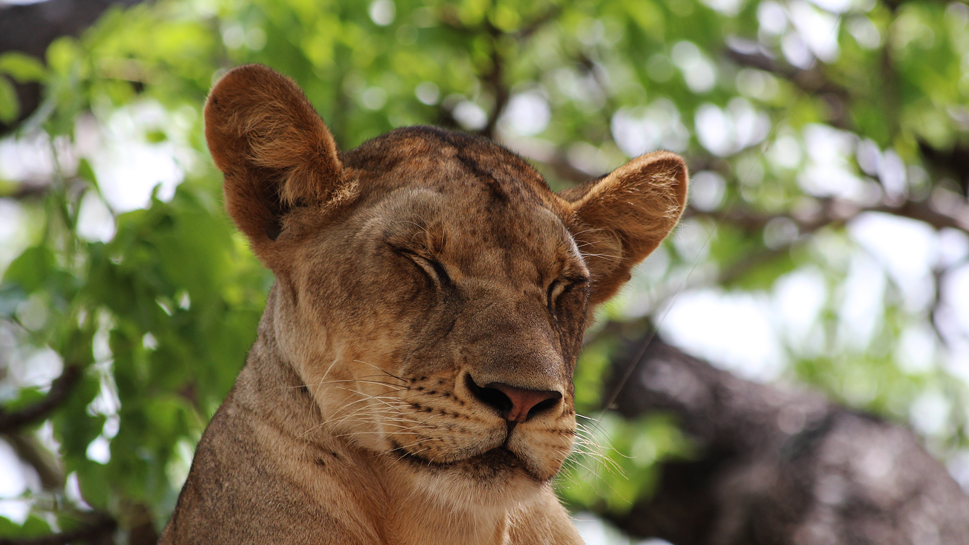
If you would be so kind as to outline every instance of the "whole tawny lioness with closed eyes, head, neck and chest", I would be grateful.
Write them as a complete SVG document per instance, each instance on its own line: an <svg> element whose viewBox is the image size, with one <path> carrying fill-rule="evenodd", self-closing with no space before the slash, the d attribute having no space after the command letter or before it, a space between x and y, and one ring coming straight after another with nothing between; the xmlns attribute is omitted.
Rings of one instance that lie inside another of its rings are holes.
<svg viewBox="0 0 969 545"><path fill-rule="evenodd" d="M161 543L581 543L549 482L582 332L675 225L683 161L555 194L515 153L433 127L341 152L259 65L204 114L276 284Z"/></svg>

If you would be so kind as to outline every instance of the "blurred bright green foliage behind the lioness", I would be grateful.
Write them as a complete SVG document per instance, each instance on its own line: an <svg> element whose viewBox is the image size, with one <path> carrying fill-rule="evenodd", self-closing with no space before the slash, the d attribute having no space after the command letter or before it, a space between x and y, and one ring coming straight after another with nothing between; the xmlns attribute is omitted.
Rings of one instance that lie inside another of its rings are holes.
<svg viewBox="0 0 969 545"><path fill-rule="evenodd" d="M807 334L778 334L782 378L898 419L928 395L947 411L933 452L965 452L966 387L937 330L937 290L966 256L933 262L936 296L913 304L845 226L892 214L965 239L952 158L969 146L967 55L969 8L929 0L158 0L109 11L46 59L4 54L0 121L19 112L14 82L40 81L45 97L8 142L40 138L52 168L40 198L0 179L27 233L0 286L0 416L59 392L16 366L43 356L79 378L43 417L2 431L42 483L24 493L25 522L0 518L0 534L72 529L93 509L127 539L171 514L271 284L224 216L203 140L205 93L247 62L297 80L343 148L417 123L481 131L555 188L657 147L688 158L684 227L603 309L580 359L577 405L591 418L560 485L574 508L621 512L649 494L659 461L691 453L668 419L603 413L610 323L641 331L683 289L763 295L797 272L826 295ZM163 121L139 125L140 108ZM81 127L118 112L141 144L188 159L172 196L115 210L103 241L80 225L92 200L110 202ZM886 278L868 337L843 307L860 259ZM898 348L913 328L929 332L918 369Z"/></svg>

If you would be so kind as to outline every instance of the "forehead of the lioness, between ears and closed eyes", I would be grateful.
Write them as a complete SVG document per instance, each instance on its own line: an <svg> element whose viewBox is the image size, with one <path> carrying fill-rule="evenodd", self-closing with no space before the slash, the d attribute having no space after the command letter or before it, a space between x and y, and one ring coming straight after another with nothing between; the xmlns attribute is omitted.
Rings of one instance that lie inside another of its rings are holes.
<svg viewBox="0 0 969 545"><path fill-rule="evenodd" d="M348 155L365 191L383 203L387 237L422 245L466 272L521 274L513 270L547 269L576 253L559 216L561 201L528 163L501 146L416 127Z"/></svg>

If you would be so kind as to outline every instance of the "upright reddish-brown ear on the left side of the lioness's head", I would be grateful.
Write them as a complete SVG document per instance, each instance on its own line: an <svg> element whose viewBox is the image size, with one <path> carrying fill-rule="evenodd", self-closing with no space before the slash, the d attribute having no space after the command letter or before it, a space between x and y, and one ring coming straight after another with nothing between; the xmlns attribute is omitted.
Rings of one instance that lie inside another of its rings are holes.
<svg viewBox="0 0 969 545"><path fill-rule="evenodd" d="M346 194L327 126L293 80L265 66L239 66L212 87L205 140L225 175L226 209L264 262L287 212Z"/></svg>

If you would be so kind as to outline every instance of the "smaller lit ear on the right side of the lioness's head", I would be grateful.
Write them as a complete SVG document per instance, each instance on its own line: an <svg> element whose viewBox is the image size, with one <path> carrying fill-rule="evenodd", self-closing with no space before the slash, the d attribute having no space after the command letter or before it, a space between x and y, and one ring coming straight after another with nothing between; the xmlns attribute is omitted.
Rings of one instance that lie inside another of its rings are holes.
<svg viewBox="0 0 969 545"><path fill-rule="evenodd" d="M654 151L559 193L571 204L571 230L593 275L591 305L612 297L670 234L686 206L686 185L683 159Z"/></svg>

